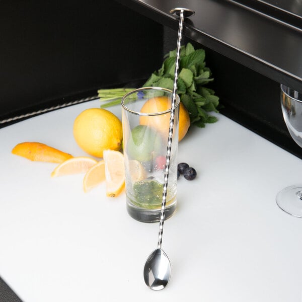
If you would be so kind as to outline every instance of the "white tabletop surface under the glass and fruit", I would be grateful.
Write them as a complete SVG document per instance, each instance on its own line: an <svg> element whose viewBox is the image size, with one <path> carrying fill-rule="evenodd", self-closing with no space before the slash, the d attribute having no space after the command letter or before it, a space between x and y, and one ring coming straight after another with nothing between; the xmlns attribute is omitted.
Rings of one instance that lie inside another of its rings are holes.
<svg viewBox="0 0 302 302"><path fill-rule="evenodd" d="M172 276L162 291L142 277L158 223L130 218L125 196L84 193L83 175L52 179L56 164L11 154L40 141L74 156L72 124L92 101L0 129L0 276L24 302L301 301L302 219L275 196L302 182L302 161L230 119L192 128L178 162L198 177L178 182L178 210L165 222ZM120 115L120 107L112 111Z"/></svg>

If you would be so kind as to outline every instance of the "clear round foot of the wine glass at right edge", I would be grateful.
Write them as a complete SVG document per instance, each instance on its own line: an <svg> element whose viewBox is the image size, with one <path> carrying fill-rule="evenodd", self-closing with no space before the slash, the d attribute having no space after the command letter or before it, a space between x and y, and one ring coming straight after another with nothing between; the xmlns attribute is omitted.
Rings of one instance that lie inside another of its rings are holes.
<svg viewBox="0 0 302 302"><path fill-rule="evenodd" d="M302 217L302 185L284 188L276 196L277 205L284 212Z"/></svg>

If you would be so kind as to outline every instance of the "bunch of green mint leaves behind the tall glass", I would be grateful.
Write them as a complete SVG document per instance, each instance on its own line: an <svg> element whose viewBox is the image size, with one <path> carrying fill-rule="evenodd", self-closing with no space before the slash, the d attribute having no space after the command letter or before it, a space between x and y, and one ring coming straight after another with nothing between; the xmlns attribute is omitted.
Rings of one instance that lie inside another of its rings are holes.
<svg viewBox="0 0 302 302"><path fill-rule="evenodd" d="M143 87L158 86L172 90L175 59L176 49L165 56L162 67L151 74ZM219 98L215 96L215 92L204 87L214 80L211 78L211 70L206 67L204 59L203 49L195 50L191 43L181 46L177 94L189 112L191 124L198 127L217 121L217 118L209 115L208 112L218 112L219 105Z"/></svg>

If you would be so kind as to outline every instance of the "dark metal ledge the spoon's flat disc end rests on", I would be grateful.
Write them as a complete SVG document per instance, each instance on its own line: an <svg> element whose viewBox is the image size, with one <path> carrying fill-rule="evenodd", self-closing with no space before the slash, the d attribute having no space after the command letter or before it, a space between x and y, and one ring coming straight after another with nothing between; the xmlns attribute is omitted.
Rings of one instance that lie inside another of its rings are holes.
<svg viewBox="0 0 302 302"><path fill-rule="evenodd" d="M137 12L172 29L169 14L177 0L123 0ZM195 11L184 35L260 74L302 91L302 29L294 28L235 1L185 0L182 7ZM301 24L302 26L302 24Z"/></svg>

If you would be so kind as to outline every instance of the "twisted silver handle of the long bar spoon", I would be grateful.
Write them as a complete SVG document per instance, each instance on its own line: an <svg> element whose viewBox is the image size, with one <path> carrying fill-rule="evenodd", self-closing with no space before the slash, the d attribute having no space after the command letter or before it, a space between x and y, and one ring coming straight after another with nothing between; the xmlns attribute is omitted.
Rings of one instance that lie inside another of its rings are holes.
<svg viewBox="0 0 302 302"><path fill-rule="evenodd" d="M176 91L177 91L177 79L178 79L178 69L179 69L179 57L180 57L180 47L181 47L180 42L181 42L181 38L182 38L183 22L184 22L184 11L181 10L180 18L179 18L178 38L177 38L177 51L176 51L176 60L175 60L173 92L172 92L172 106L171 106L172 108L171 108L171 115L170 115L169 137L168 137L168 144L167 144L167 155L166 155L165 176L164 176L164 185L163 185L163 199L162 199L162 208L161 208L161 216L160 216L160 231L159 231L158 248L162 247L162 241L163 241L165 207L166 207L166 199L167 199L168 177L169 177L172 135L173 135L173 125L174 125L174 113L175 113L175 101L176 101Z"/></svg>

